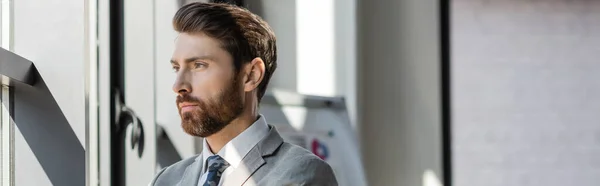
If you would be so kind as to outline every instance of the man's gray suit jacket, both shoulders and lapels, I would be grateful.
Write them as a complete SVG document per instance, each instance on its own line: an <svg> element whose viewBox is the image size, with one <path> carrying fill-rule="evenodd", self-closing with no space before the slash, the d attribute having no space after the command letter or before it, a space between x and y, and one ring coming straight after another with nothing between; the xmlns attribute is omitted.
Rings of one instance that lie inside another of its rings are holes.
<svg viewBox="0 0 600 186"><path fill-rule="evenodd" d="M201 155L163 168L152 186L196 186L202 175ZM275 127L227 176L223 186L238 185L337 185L333 170L308 150L284 142Z"/></svg>

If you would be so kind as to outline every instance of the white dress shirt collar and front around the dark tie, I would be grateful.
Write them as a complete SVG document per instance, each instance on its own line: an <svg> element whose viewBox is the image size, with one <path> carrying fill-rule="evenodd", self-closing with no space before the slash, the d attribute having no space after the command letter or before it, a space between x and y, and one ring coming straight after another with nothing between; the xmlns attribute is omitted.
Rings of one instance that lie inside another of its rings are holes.
<svg viewBox="0 0 600 186"><path fill-rule="evenodd" d="M225 161L229 163L229 167L225 169L221 176L221 180L219 181L219 186L223 184L223 181L227 178L228 174L231 174L233 170L235 170L240 163L242 163L242 159L258 142L266 137L269 134L269 126L267 125L267 121L263 115L259 115L258 120L256 120L250 127L240 133L238 136L233 138L231 141L227 142L223 148L217 153L217 155L221 156ZM202 176L200 176L200 180L198 180L198 186L202 186L206 181L206 177L208 176L207 172L207 159L208 157L215 155L210 151L208 143L206 143L206 139L202 140L202 162L204 165L202 166Z"/></svg>

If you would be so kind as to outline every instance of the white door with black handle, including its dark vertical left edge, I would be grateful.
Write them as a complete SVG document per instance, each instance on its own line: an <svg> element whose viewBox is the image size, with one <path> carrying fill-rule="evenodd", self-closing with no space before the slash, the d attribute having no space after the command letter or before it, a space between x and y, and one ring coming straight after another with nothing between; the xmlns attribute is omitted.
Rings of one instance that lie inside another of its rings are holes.
<svg viewBox="0 0 600 186"><path fill-rule="evenodd" d="M102 185L148 185L155 173L153 5L110 1L110 86L101 90L110 92L110 181L101 176Z"/></svg>

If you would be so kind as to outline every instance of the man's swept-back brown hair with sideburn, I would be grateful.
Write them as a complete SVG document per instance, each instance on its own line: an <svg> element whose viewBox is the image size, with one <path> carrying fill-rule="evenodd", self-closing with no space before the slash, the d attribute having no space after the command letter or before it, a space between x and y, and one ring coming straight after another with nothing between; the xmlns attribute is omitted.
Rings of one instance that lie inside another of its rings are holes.
<svg viewBox="0 0 600 186"><path fill-rule="evenodd" d="M250 11L225 3L190 3L173 17L173 28L180 33L204 33L218 39L233 56L236 73L242 64L260 57L265 75L258 85L260 101L277 68L275 34L264 20Z"/></svg>

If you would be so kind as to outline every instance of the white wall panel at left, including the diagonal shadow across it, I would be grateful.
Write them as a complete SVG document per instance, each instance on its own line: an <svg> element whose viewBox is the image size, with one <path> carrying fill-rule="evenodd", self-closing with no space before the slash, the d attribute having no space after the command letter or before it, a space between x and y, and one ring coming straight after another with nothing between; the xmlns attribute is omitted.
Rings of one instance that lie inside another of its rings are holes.
<svg viewBox="0 0 600 186"><path fill-rule="evenodd" d="M64 158L52 152L68 151L63 147L73 147L77 149L73 152L75 159L63 162L63 168L72 168L69 164L85 167L84 1L19 0L11 3L14 3L14 52L33 61L45 80L45 85L44 82L39 82L36 89L21 89L16 93L15 184L73 185L74 182L60 180L68 179L58 171L57 166L60 164L55 162ZM36 97L40 100L27 103L30 105L20 105L25 104L19 101L20 95L30 93L40 96L38 93L45 86L49 88L62 113L60 110L45 110L52 108L49 106L53 104L52 97ZM19 93L20 91L24 92ZM50 117L56 117L52 120L42 119L48 113L52 113ZM66 121L70 126L66 125ZM66 136L48 136L59 133ZM76 177L72 178L78 180L75 183L83 184L79 180L84 180L85 170L75 167L76 174L70 176ZM73 170L63 173L70 171Z"/></svg>

